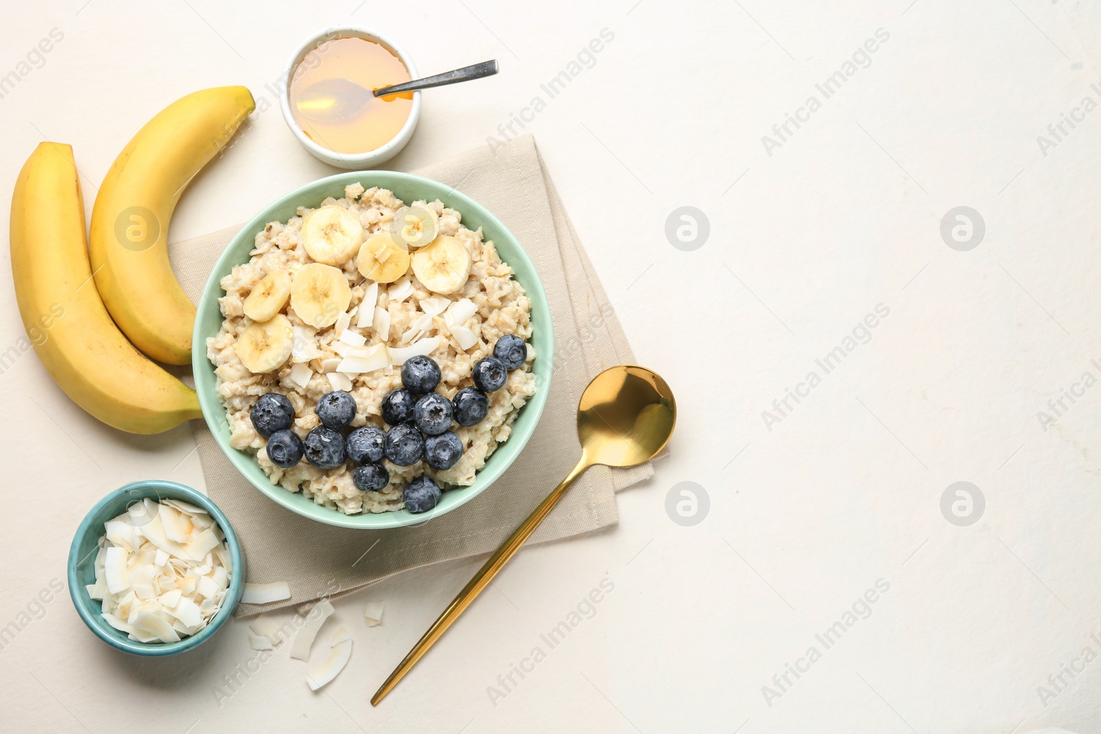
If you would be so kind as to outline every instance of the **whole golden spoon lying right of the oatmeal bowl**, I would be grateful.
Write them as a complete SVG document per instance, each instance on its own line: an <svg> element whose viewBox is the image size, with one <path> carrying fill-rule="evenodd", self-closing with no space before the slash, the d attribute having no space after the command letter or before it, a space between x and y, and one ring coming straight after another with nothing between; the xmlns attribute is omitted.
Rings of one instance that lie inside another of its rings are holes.
<svg viewBox="0 0 1101 734"><path fill-rule="evenodd" d="M624 364L604 370L593 377L581 394L581 403L577 408L581 460L447 605L439 618L428 627L428 632L424 633L371 698L371 705L379 705L379 701L393 690L421 656L470 606L509 559L516 555L539 523L550 514L575 479L593 464L634 467L653 459L668 442L676 421L677 404L673 399L673 391L661 376L646 368Z"/></svg>

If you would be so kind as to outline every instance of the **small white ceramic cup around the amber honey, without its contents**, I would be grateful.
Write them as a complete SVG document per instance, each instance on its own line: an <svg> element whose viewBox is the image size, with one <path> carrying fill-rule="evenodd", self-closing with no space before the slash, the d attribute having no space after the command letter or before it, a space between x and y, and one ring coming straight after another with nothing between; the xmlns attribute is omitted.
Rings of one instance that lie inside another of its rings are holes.
<svg viewBox="0 0 1101 734"><path fill-rule="evenodd" d="M302 59L306 57L306 54L325 41L331 41L334 39L367 39L368 41L381 44L385 48L393 52L402 64L405 65L405 68L408 69L411 79L417 78L416 66L413 64L413 59L410 58L410 55L406 54L401 46L385 35L379 33L378 31L372 31L358 25L329 28L317 35L307 39L306 42L291 55L291 61L287 63L287 66L283 72L280 88L280 107L283 110L283 119L286 120L287 127L291 128L291 132L293 132L294 136L298 139L298 142L302 143L303 147L313 153L319 161L324 161L330 166L347 168L349 171L373 168L374 166L381 165L397 155L397 153L405 147L405 144L410 142L410 139L413 138L413 131L416 129L417 120L421 119L421 92L413 92L413 109L410 111L408 119L405 121L405 124L397 132L397 134L385 145L377 147L373 151L368 151L367 153L337 153L336 151L330 151L323 145L318 145L312 141L305 132L303 132L302 128L298 127L298 123L295 122L294 114L291 112L291 79L293 78L295 69L298 68L298 64L301 64Z"/></svg>

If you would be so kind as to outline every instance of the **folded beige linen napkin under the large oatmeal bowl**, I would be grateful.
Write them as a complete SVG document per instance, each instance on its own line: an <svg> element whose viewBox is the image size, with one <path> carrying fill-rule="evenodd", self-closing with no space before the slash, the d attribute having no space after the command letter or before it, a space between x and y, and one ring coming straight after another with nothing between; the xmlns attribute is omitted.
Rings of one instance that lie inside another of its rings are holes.
<svg viewBox="0 0 1101 734"><path fill-rule="evenodd" d="M454 186L497 215L535 263L550 302L555 340L554 355L537 355L555 360L550 385L541 386L550 391L543 416L521 456L480 496L423 525L389 530L331 527L284 510L238 474L204 421L193 421L207 492L241 540L248 580L291 585L291 599L241 604L239 615L302 606L400 571L497 549L580 456L576 407L589 380L608 366L634 361L533 138L515 139L495 154L480 147L415 173ZM198 303L215 261L239 229L170 245L176 274L193 302ZM648 463L589 469L532 543L615 523L614 492L652 474Z"/></svg>

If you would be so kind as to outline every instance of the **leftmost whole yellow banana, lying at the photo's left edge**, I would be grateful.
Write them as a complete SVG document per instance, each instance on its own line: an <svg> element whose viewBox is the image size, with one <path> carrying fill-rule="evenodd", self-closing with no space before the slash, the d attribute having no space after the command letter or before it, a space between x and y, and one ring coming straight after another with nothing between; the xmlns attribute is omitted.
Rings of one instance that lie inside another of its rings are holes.
<svg viewBox="0 0 1101 734"><path fill-rule="evenodd" d="M41 143L11 200L11 272L23 327L50 376L85 410L132 434L203 415L195 391L127 341L103 307L84 234L73 149Z"/></svg>

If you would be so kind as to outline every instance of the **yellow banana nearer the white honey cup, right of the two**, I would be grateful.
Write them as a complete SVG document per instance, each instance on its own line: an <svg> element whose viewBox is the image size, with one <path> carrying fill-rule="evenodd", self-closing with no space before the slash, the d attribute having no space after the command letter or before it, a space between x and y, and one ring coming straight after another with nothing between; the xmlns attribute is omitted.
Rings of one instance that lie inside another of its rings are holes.
<svg viewBox="0 0 1101 734"><path fill-rule="evenodd" d="M138 349L189 364L195 306L168 263L179 195L255 108L244 87L204 89L145 123L107 172L91 211L89 249L107 310Z"/></svg>

